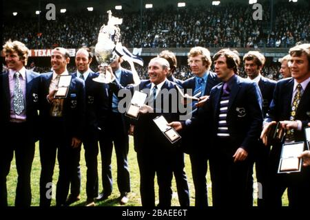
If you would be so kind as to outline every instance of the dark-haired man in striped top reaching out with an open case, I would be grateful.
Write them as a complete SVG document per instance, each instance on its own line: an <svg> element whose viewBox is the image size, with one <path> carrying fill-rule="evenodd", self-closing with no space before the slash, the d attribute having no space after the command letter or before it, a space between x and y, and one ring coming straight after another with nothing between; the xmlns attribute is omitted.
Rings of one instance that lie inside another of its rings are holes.
<svg viewBox="0 0 310 220"><path fill-rule="evenodd" d="M211 89L209 99L192 120L168 124L177 130L208 124L209 146L200 147L210 148L214 206L251 206L247 197L248 155L262 126L262 98L256 83L237 76L238 65L238 56L231 50L217 52L214 67L223 83Z"/></svg>

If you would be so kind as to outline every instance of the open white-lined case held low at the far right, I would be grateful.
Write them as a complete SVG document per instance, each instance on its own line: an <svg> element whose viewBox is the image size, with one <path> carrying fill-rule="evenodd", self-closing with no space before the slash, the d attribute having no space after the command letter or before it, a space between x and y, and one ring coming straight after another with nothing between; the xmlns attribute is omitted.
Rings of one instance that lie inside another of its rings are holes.
<svg viewBox="0 0 310 220"><path fill-rule="evenodd" d="M304 142L283 144L278 173L300 172L302 167L302 158L298 158L298 155L300 155L302 151L304 151Z"/></svg>

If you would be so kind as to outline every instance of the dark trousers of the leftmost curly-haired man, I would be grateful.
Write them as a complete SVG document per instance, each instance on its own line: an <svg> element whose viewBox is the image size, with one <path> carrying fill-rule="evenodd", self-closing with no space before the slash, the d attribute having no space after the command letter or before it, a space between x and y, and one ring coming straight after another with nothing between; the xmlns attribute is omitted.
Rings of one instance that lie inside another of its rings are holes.
<svg viewBox="0 0 310 220"><path fill-rule="evenodd" d="M14 134L16 135L14 136ZM18 174L15 206L30 206L32 198L30 173L34 158L34 140L28 135L28 126L26 122L10 123L5 133L3 133L0 154L1 207L8 206L6 177L10 173L10 164L14 153Z"/></svg>

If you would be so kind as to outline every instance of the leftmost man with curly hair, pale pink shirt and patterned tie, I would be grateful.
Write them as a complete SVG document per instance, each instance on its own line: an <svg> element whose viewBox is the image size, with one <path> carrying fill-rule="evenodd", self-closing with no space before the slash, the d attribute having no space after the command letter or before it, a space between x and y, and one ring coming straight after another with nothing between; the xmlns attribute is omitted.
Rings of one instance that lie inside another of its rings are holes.
<svg viewBox="0 0 310 220"><path fill-rule="evenodd" d="M19 41L3 45L8 70L0 74L0 207L8 206L6 177L15 153L15 206L31 205L30 172L37 141L39 74L25 69L29 50Z"/></svg>

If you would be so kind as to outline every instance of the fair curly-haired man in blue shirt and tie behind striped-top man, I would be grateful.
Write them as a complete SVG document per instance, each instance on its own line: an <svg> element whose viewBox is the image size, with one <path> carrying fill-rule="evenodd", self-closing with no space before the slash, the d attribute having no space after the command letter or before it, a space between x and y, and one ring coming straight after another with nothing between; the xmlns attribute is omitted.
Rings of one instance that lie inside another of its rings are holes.
<svg viewBox="0 0 310 220"><path fill-rule="evenodd" d="M210 71L211 57L210 52L204 47L193 47L188 54L188 65L192 70L194 77L185 80L183 87L187 94L200 98L200 102L189 102L192 104L192 116L197 114L198 106L210 94L212 87L218 85L220 80L214 72ZM184 133L183 148L185 153L189 153L192 164L192 177L195 187L195 206L208 206L207 197L207 161L209 151L206 147L201 147L200 140L196 136L205 135L203 125L194 131L187 130Z"/></svg>

